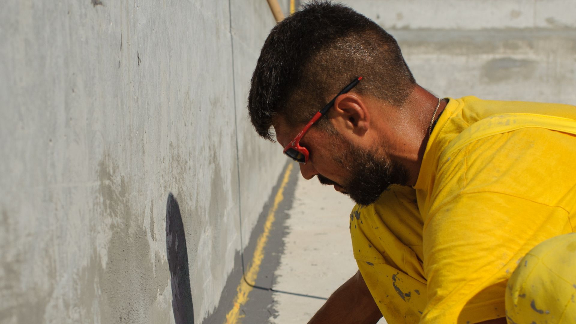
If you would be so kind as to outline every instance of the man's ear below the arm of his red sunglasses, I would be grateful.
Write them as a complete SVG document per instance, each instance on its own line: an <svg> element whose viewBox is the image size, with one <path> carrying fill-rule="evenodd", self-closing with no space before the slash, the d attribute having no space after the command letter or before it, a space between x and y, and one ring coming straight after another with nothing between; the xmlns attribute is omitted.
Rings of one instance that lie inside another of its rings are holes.
<svg viewBox="0 0 576 324"><path fill-rule="evenodd" d="M362 136L370 127L370 114L362 98L354 93L344 93L336 98L328 118L340 133Z"/></svg>

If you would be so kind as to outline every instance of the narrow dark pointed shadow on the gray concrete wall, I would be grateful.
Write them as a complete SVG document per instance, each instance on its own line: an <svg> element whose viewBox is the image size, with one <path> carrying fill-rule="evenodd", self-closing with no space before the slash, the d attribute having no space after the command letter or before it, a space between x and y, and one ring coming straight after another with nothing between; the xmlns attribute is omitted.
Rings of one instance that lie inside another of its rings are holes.
<svg viewBox="0 0 576 324"><path fill-rule="evenodd" d="M190 291L188 250L180 206L172 193L166 203L166 251L172 285L172 310L176 324L194 324L194 306Z"/></svg>

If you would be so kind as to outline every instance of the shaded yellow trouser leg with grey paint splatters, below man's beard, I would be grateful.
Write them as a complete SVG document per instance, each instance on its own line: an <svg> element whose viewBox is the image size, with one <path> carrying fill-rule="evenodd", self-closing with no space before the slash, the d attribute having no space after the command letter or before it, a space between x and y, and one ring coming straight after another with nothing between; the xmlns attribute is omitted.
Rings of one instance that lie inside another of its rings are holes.
<svg viewBox="0 0 576 324"><path fill-rule="evenodd" d="M411 187L391 186L350 214L354 258L389 323L417 323L426 307L422 225Z"/></svg>

